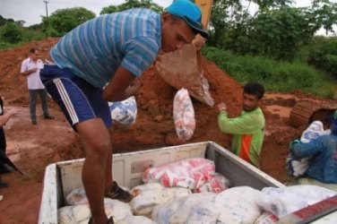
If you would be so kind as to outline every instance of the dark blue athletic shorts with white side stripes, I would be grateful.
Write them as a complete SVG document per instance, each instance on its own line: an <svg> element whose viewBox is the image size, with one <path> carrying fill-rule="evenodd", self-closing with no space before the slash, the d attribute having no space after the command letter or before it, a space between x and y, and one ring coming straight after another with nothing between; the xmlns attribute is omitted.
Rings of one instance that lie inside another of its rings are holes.
<svg viewBox="0 0 337 224"><path fill-rule="evenodd" d="M101 118L108 128L112 126L108 102L102 98L101 88L57 65L45 65L40 78L73 128L77 123L92 118Z"/></svg>

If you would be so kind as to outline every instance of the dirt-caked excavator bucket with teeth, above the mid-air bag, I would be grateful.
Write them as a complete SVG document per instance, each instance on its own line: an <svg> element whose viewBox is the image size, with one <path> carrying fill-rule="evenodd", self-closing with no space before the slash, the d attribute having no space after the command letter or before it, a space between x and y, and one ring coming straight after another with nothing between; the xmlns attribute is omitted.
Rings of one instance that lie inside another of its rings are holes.
<svg viewBox="0 0 337 224"><path fill-rule="evenodd" d="M160 55L156 62L156 69L165 82L177 90L186 88L192 97L213 106L214 99L209 91L209 83L200 68L202 66L198 65L193 44L186 44L181 49Z"/></svg>

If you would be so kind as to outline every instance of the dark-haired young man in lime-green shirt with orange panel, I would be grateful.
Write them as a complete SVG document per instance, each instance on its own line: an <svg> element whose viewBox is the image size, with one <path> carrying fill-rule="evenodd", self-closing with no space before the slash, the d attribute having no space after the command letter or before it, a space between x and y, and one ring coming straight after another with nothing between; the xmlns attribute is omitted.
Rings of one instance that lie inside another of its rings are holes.
<svg viewBox="0 0 337 224"><path fill-rule="evenodd" d="M264 97L264 87L256 82L248 82L244 87L243 111L240 116L229 118L226 104L218 105L220 131L234 134L231 150L241 159L259 167L259 156L264 142L264 114L258 108Z"/></svg>

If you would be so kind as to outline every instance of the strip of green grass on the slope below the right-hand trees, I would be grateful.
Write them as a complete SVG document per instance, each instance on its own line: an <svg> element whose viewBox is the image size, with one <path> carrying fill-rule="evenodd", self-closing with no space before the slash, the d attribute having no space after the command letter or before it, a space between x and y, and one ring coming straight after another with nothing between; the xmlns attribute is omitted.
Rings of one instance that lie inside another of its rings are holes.
<svg viewBox="0 0 337 224"><path fill-rule="evenodd" d="M336 77L303 63L277 61L265 56L238 56L216 47L203 47L203 56L213 61L238 82L261 82L266 90L304 90L337 99Z"/></svg>

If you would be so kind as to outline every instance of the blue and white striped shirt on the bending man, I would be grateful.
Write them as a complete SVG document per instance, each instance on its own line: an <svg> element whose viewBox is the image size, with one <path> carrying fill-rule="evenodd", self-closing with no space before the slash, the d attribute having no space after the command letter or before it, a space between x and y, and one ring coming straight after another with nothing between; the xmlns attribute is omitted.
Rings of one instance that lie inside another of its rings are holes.
<svg viewBox="0 0 337 224"><path fill-rule="evenodd" d="M120 65L141 75L160 47L160 14L134 8L83 23L60 39L50 55L60 68L103 87Z"/></svg>

